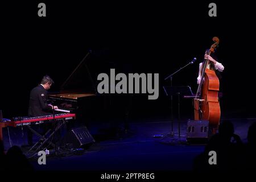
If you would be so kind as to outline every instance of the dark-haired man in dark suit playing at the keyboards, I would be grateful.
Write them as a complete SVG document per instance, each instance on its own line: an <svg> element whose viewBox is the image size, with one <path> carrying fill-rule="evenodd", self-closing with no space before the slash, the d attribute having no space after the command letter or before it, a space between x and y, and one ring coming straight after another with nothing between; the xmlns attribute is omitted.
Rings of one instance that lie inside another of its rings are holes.
<svg viewBox="0 0 256 182"><path fill-rule="evenodd" d="M41 84L31 90L28 106L29 117L51 115L53 109L58 109L57 106L47 104L47 90L51 88L53 83L54 82L51 77L44 76ZM30 130L28 130L28 144L32 145L32 133Z"/></svg>

